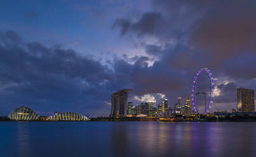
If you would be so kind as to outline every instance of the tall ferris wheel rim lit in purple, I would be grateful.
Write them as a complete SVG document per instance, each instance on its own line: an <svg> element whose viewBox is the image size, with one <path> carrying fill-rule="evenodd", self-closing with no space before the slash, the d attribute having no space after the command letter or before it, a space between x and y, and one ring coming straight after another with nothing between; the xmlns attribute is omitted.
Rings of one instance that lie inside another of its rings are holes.
<svg viewBox="0 0 256 157"><path fill-rule="evenodd" d="M210 110L210 107L212 106L212 97L213 97L213 78L212 78L212 73L210 72L210 70L208 70L208 68L201 68L200 70L198 70L198 73L196 73L196 76L194 77L194 82L193 82L193 87L192 87L192 94L191 94L191 99L192 99L192 106L193 106L193 110L196 114L198 114L198 108L196 108L196 105L194 104L194 87L196 85L196 80L198 79L198 76L201 72L207 72L208 76L210 78L210 102L208 104L208 106L206 107L205 113L208 113Z"/></svg>

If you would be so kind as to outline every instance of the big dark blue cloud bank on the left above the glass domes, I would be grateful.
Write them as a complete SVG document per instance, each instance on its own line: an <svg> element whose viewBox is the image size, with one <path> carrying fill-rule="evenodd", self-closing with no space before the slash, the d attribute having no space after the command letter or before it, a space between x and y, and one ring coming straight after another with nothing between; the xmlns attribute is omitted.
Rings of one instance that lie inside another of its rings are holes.
<svg viewBox="0 0 256 157"><path fill-rule="evenodd" d="M23 42L13 31L0 32L0 65L1 97L12 108L100 108L116 90L105 89L113 75L100 61L60 46Z"/></svg>

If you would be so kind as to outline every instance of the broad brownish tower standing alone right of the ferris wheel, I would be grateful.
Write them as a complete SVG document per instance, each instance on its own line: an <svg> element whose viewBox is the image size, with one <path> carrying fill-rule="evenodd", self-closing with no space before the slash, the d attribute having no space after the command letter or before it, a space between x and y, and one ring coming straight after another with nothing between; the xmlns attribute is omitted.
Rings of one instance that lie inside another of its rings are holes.
<svg viewBox="0 0 256 157"><path fill-rule="evenodd" d="M254 112L254 90L253 89L236 89L238 94L238 112Z"/></svg>

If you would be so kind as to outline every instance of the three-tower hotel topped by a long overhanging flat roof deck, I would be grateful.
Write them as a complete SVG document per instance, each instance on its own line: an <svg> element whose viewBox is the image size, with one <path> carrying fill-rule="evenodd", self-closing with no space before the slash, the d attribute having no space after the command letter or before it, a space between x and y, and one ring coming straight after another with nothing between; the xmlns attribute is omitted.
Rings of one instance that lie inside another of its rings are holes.
<svg viewBox="0 0 256 157"><path fill-rule="evenodd" d="M112 107L109 117L119 118L127 116L127 101L129 91L131 91L131 89L118 90L111 95Z"/></svg>

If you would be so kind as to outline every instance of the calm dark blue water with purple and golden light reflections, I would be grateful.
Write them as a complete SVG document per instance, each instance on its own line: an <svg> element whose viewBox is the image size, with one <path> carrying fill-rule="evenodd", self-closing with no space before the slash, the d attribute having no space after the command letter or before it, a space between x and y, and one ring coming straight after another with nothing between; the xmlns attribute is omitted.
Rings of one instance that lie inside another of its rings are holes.
<svg viewBox="0 0 256 157"><path fill-rule="evenodd" d="M256 123L0 122L0 156L256 156Z"/></svg>

